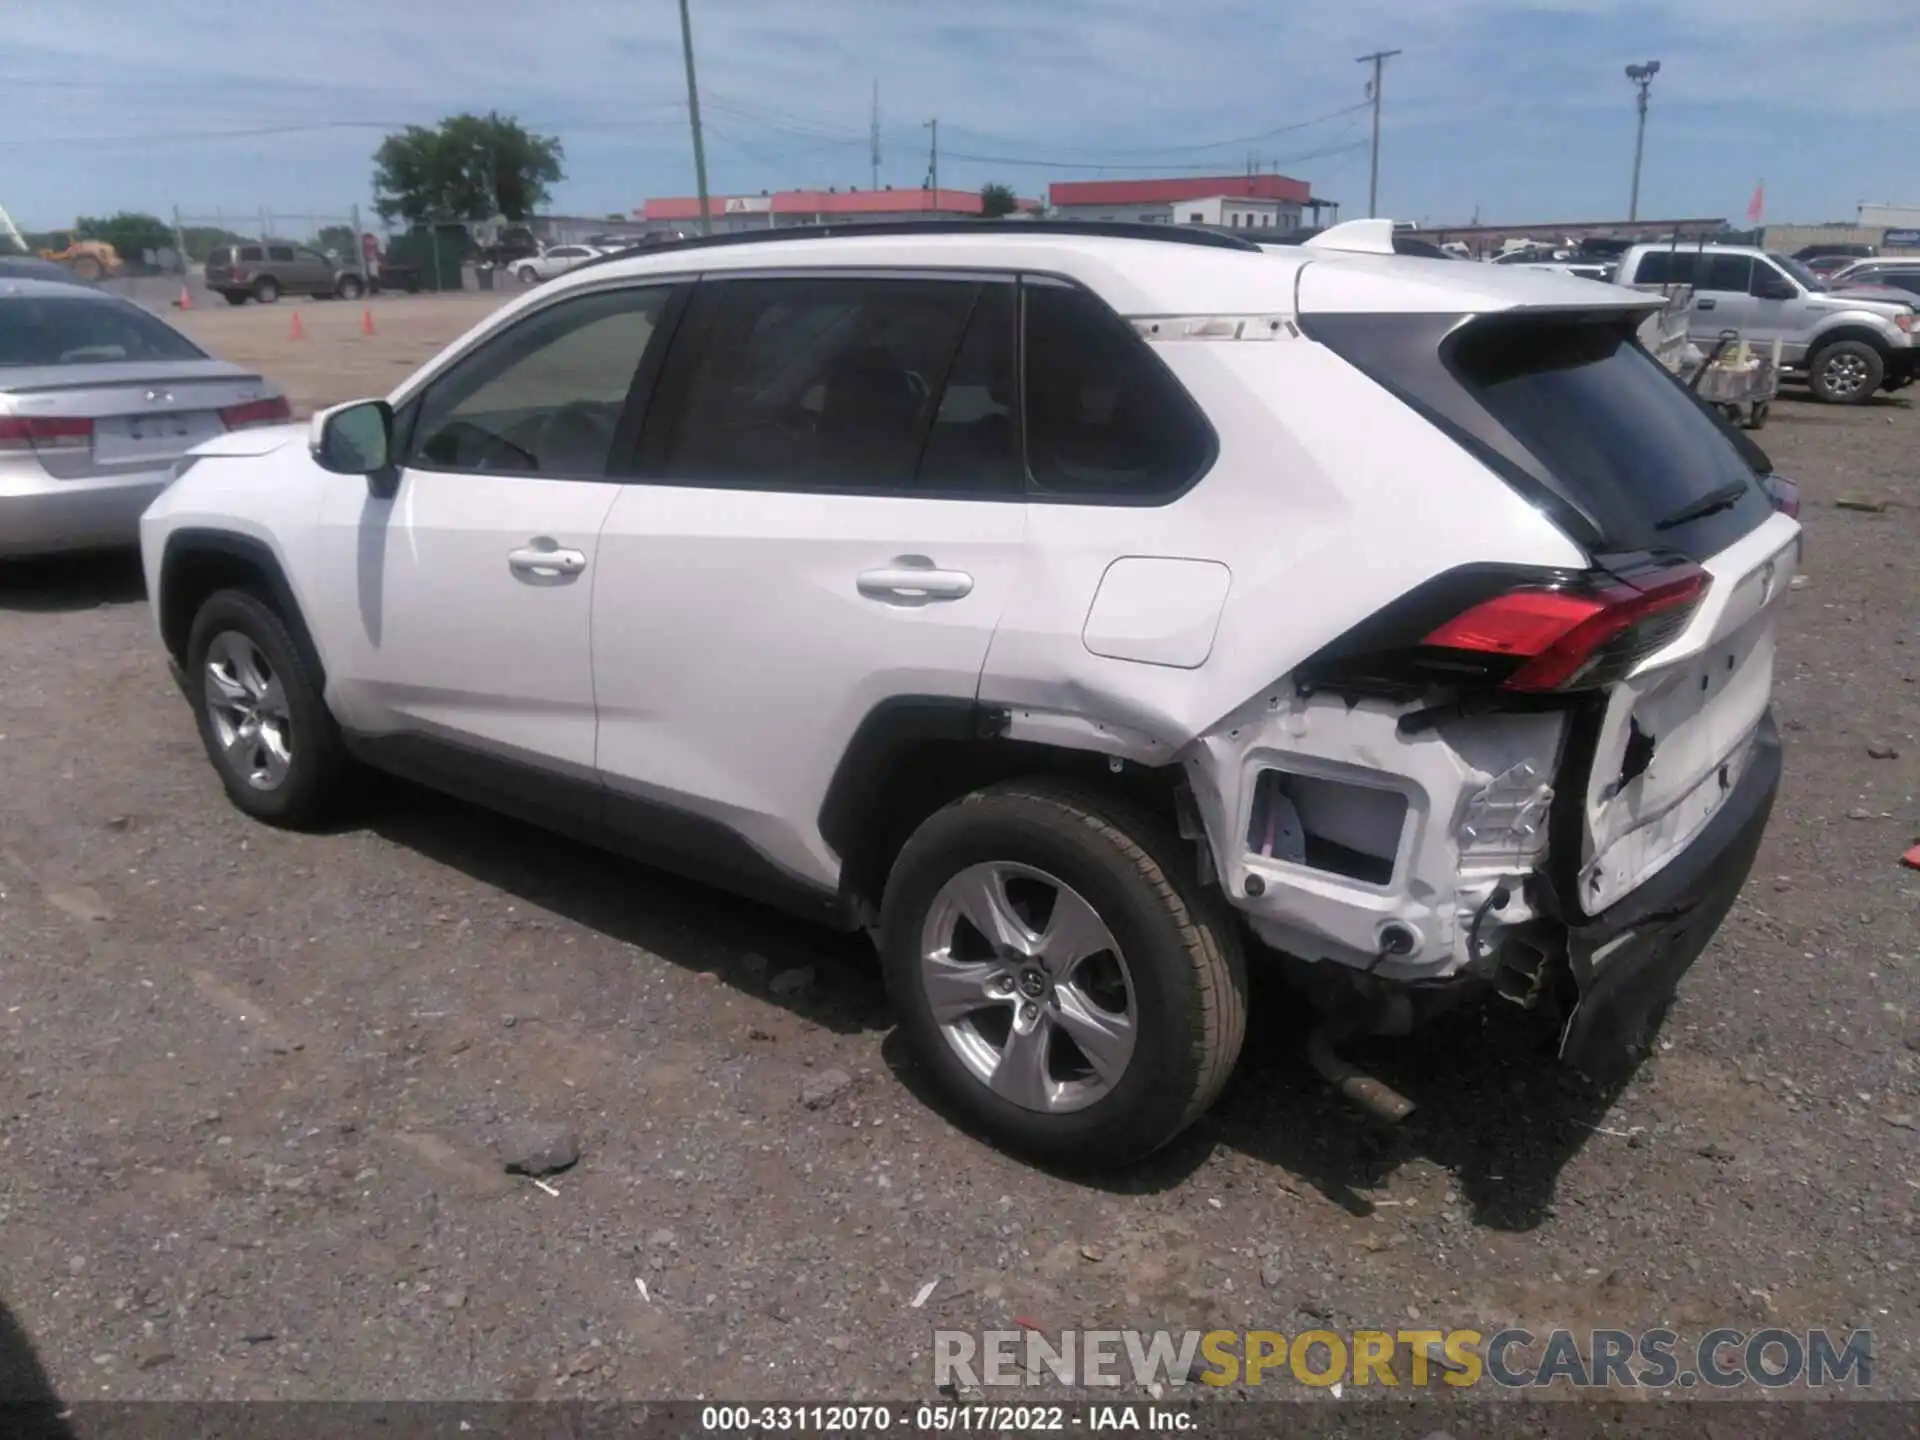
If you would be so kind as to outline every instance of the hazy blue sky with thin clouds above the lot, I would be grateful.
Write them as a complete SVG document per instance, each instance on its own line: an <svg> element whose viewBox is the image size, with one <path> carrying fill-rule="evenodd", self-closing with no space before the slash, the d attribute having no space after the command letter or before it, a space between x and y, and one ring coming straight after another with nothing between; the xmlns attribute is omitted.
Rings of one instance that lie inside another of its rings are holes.
<svg viewBox="0 0 1920 1440"><path fill-rule="evenodd" d="M4 0L0 205L344 213L384 129L497 108L557 134L555 209L691 194L674 0ZM716 194L1242 173L1365 211L1365 71L1388 63L1380 209L1615 217L1628 61L1659 58L1642 215L1847 219L1920 204L1907 0L693 0ZM1346 113L1340 113L1346 111Z"/></svg>

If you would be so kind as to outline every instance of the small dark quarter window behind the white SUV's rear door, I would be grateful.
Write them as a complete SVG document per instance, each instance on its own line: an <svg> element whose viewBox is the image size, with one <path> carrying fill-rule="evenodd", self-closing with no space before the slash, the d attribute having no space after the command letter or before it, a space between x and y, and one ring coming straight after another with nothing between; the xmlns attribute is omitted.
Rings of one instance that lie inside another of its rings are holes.
<svg viewBox="0 0 1920 1440"><path fill-rule="evenodd" d="M1025 309L1035 497L1154 503L1200 478L1213 430L1125 321L1062 284L1027 284Z"/></svg>

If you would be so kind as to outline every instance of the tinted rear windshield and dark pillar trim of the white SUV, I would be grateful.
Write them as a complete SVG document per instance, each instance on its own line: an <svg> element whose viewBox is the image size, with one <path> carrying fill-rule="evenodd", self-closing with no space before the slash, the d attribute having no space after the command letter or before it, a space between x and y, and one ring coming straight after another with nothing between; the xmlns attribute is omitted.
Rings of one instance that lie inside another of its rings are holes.
<svg viewBox="0 0 1920 1440"><path fill-rule="evenodd" d="M1753 484L1766 457L1640 348L1638 319L1327 315L1309 334L1544 501L1582 543L1705 559L1772 513ZM1736 488L1730 505L1661 528Z"/></svg>

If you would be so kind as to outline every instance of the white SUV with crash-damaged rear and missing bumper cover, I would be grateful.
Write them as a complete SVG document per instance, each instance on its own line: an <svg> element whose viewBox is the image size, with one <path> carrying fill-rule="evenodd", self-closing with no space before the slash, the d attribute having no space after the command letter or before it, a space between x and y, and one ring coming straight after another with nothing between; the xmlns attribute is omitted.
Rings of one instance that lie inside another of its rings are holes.
<svg viewBox="0 0 1920 1440"><path fill-rule="evenodd" d="M1384 252L1384 253L1382 253ZM1638 1046L1780 776L1789 488L1645 307L1096 225L695 240L384 401L202 445L142 543L232 801L411 776L879 943L954 1106L1192 1121L1244 956L1332 1050L1448 1002Z"/></svg>

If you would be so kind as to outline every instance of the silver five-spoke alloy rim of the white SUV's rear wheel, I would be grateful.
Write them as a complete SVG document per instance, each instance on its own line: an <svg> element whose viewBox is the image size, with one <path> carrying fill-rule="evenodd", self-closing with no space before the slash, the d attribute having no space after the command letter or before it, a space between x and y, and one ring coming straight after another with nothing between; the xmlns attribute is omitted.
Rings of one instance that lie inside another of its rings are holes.
<svg viewBox="0 0 1920 1440"><path fill-rule="evenodd" d="M1058 876L1008 862L962 870L927 912L920 966L947 1044L1002 1100L1069 1114L1127 1073L1127 960Z"/></svg>

